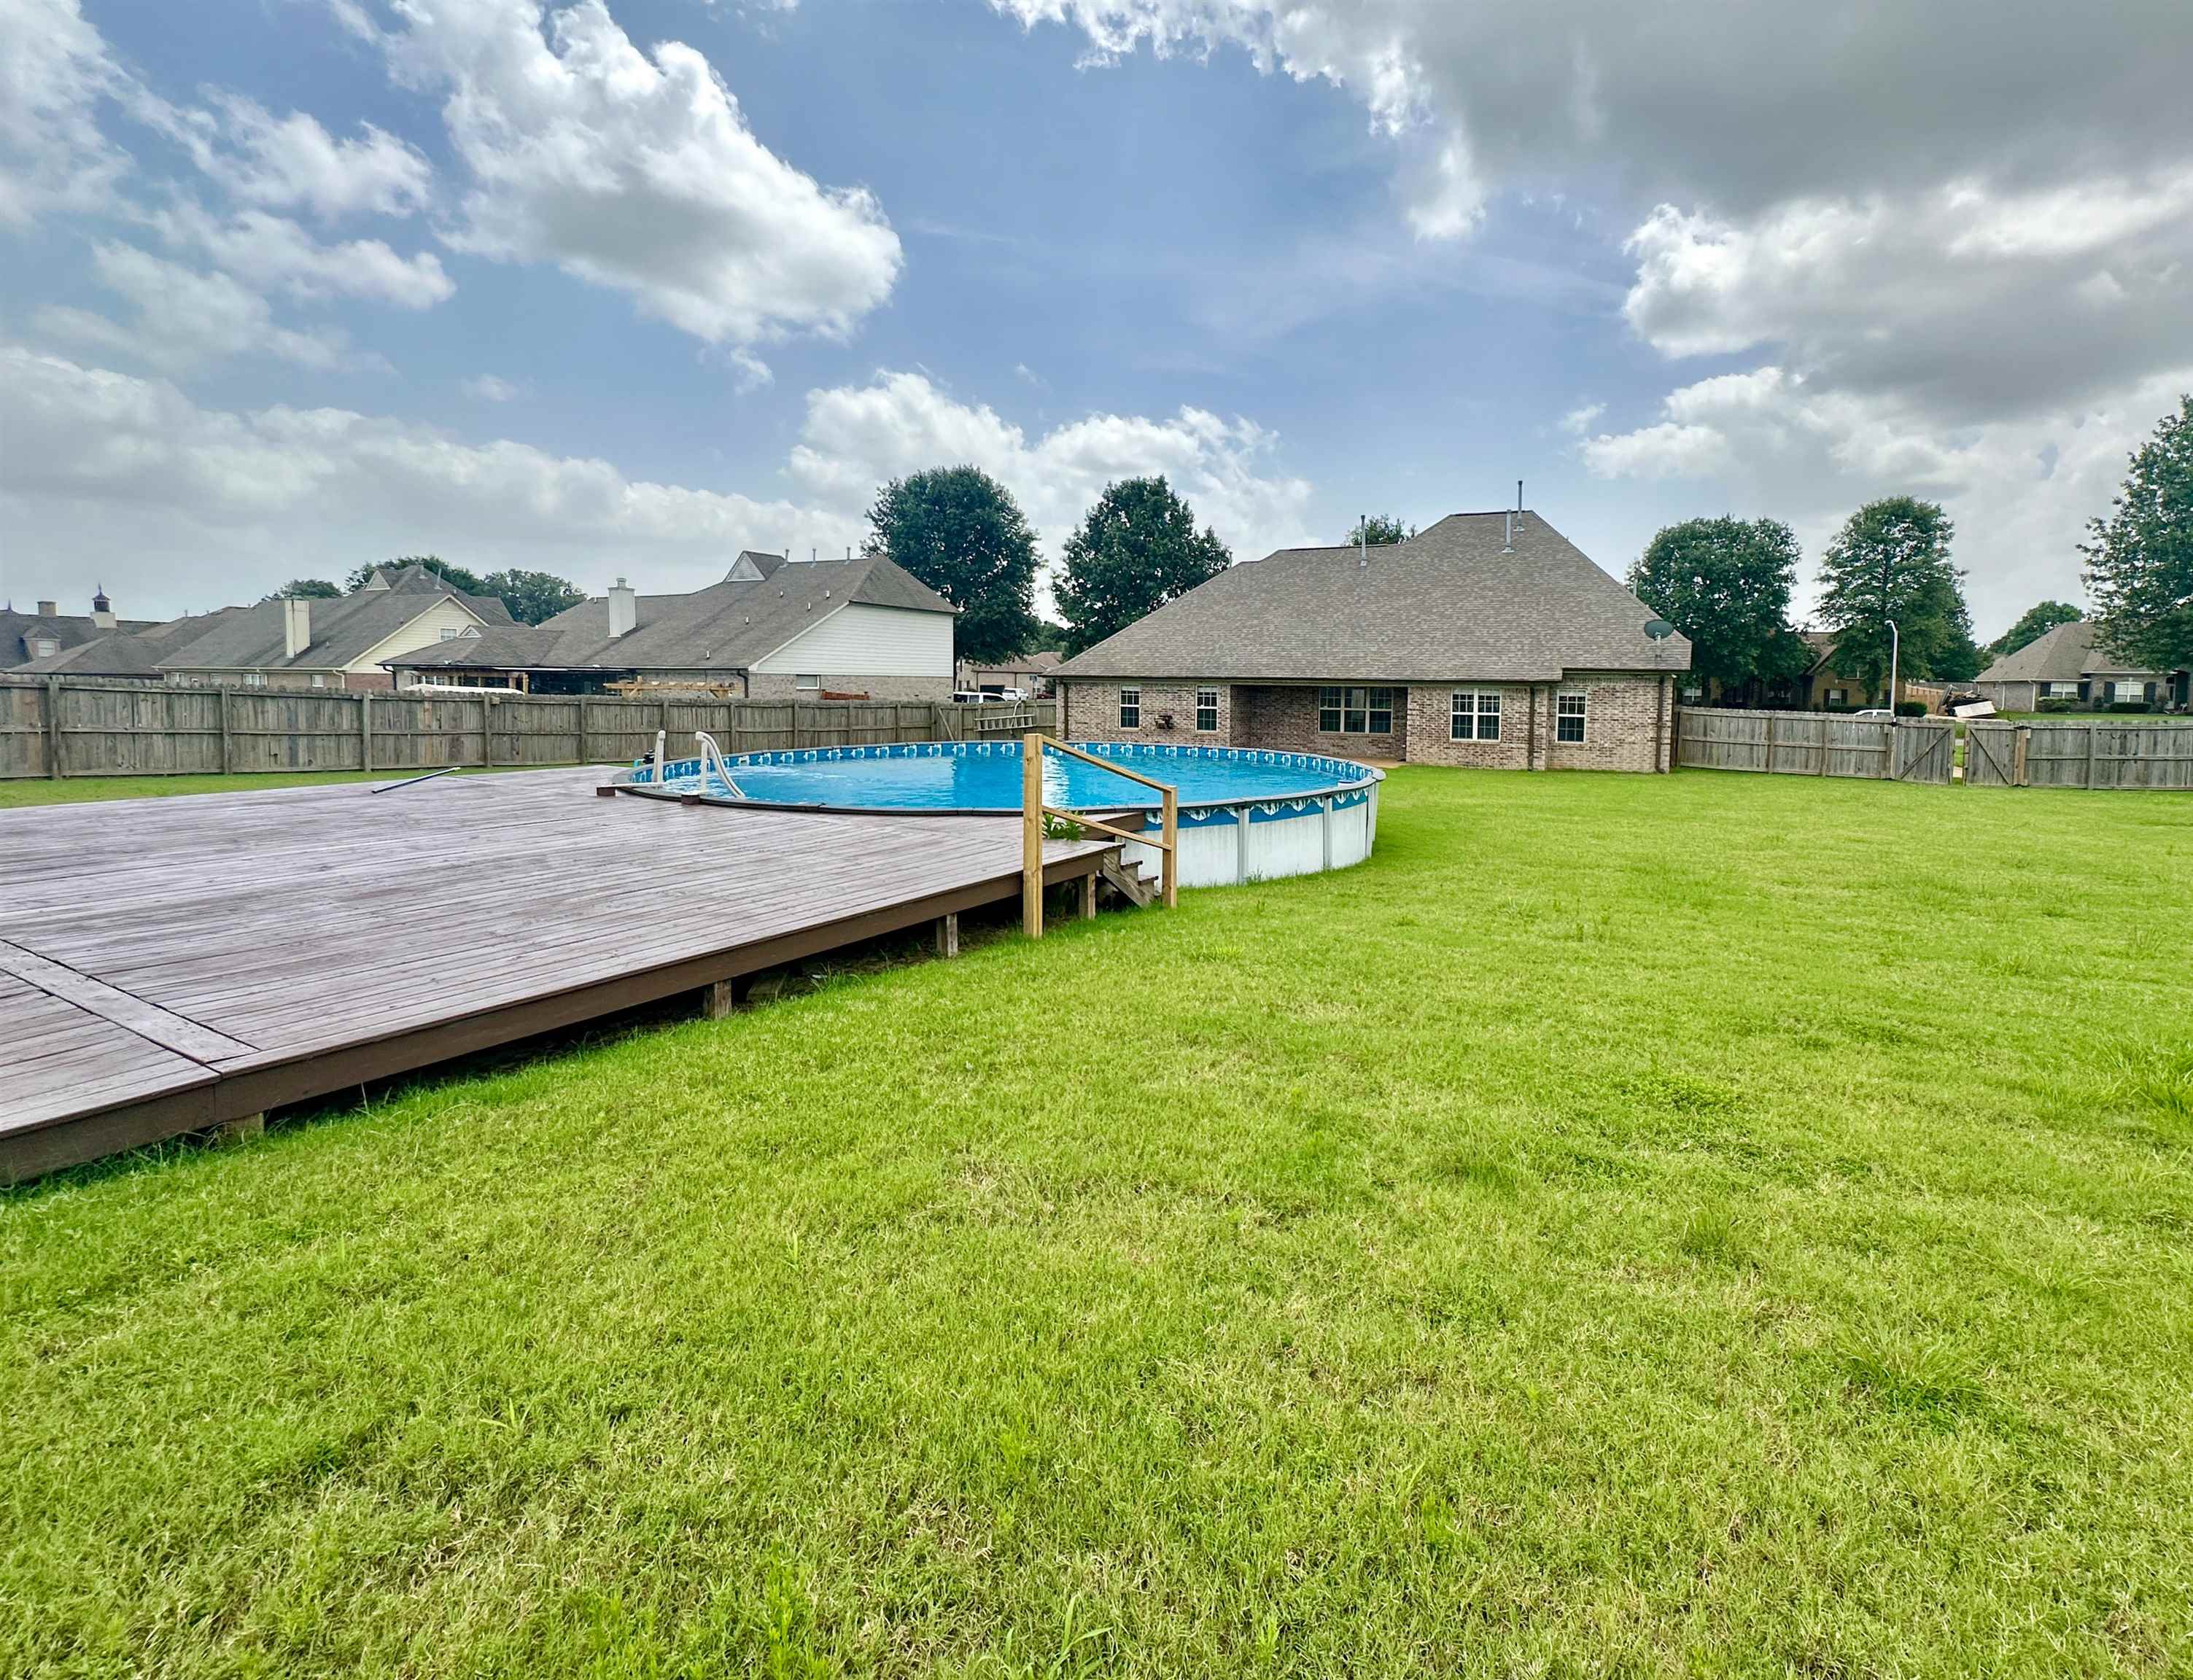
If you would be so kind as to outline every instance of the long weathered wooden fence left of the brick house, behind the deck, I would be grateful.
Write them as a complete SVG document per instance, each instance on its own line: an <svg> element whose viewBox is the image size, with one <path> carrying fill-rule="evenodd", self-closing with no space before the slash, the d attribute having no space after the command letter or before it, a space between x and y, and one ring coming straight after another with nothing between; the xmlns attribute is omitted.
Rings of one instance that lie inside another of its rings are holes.
<svg viewBox="0 0 2193 1680"><path fill-rule="evenodd" d="M993 717L1057 728L1050 702L318 693L0 678L0 781L627 763L654 750L656 730L680 743L706 730L726 752L763 752L980 739Z"/></svg>

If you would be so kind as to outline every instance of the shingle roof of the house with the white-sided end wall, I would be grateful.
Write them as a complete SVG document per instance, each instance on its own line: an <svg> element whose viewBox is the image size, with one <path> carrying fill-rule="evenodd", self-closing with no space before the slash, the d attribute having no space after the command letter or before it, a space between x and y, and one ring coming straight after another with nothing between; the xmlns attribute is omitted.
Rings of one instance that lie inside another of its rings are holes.
<svg viewBox="0 0 2193 1680"><path fill-rule="evenodd" d="M776 555L741 555L774 561ZM592 597L544 625L386 660L390 667L463 665L502 671L724 671L748 669L849 601L914 612L952 603L879 555L765 566L689 594L643 594L638 618L610 636L610 601Z"/></svg>

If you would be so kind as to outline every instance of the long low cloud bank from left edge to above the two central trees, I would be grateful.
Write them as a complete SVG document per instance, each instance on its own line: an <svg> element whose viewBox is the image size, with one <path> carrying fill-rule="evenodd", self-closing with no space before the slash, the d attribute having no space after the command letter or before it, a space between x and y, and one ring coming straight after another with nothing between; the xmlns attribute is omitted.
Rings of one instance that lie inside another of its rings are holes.
<svg viewBox="0 0 2193 1680"><path fill-rule="evenodd" d="M842 553L884 476L945 461L1000 474L1053 537L1105 480L1136 472L1167 472L1241 555L1300 537L1307 500L1300 480L1259 472L1270 439L1248 421L1092 415L1029 439L914 373L809 395L789 500L634 480L599 458L342 408L202 408L164 379L22 347L0 347L0 522L29 557L11 559L11 588L75 594L96 570L145 614L423 548L594 588L618 570L697 588L739 548Z"/></svg>

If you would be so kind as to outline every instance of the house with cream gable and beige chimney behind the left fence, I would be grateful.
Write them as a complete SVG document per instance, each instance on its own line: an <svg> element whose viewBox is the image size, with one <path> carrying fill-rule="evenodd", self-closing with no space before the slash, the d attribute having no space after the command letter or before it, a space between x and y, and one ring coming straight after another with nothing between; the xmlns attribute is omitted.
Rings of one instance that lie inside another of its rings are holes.
<svg viewBox="0 0 2193 1680"><path fill-rule="evenodd" d="M491 594L458 594L425 566L382 566L351 594L274 599L178 623L195 634L167 636L156 665L169 682L388 689L386 660L469 629L507 627L511 610Z"/></svg>

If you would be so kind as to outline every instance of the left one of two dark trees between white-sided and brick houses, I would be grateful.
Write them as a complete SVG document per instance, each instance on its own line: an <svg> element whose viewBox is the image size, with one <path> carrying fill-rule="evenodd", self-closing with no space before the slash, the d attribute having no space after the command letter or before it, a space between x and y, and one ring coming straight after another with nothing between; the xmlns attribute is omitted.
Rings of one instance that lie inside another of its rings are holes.
<svg viewBox="0 0 2193 1680"><path fill-rule="evenodd" d="M868 509L868 555L886 555L961 610L963 660L1018 658L1037 640L1035 533L1013 493L980 467L893 478Z"/></svg>

